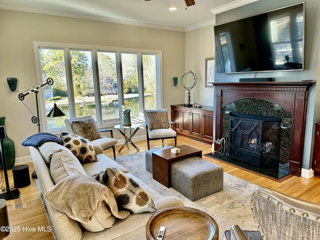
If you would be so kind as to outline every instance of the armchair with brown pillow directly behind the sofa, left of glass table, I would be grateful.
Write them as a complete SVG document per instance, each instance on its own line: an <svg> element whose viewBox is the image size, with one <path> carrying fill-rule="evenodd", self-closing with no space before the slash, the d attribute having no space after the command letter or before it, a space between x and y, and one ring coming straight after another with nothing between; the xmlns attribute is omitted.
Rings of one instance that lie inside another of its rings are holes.
<svg viewBox="0 0 320 240"><path fill-rule="evenodd" d="M69 133L87 138L90 142L99 144L103 150L112 147L115 159L114 145L117 139L113 138L112 129L98 129L94 119L90 115L66 118L64 124ZM108 131L111 137L101 136L100 132Z"/></svg>

